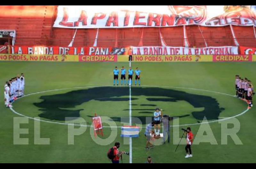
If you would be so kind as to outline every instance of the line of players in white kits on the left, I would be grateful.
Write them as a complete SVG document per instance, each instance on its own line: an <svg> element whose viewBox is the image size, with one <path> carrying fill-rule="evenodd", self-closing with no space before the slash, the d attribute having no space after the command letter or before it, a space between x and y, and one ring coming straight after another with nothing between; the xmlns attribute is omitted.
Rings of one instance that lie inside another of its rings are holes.
<svg viewBox="0 0 256 169"><path fill-rule="evenodd" d="M12 107L12 102L24 95L25 77L24 73L17 75L5 82L4 85L4 104L6 107Z"/></svg>

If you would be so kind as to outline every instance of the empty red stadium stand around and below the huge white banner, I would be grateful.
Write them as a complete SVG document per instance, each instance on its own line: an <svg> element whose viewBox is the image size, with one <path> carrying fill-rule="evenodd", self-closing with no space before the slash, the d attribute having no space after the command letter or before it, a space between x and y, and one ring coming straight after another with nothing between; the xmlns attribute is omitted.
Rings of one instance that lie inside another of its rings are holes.
<svg viewBox="0 0 256 169"><path fill-rule="evenodd" d="M185 46L189 47L234 46L230 26L175 26L164 28L119 29L66 29L54 28L57 16L55 6L0 6L0 29L16 30L15 45L68 46ZM253 26L233 26L235 38L241 46L256 46ZM184 32L185 31L185 32ZM97 38L96 38L97 36Z"/></svg>

